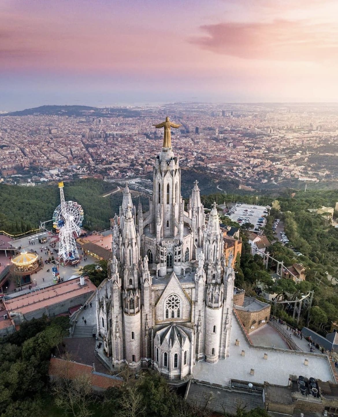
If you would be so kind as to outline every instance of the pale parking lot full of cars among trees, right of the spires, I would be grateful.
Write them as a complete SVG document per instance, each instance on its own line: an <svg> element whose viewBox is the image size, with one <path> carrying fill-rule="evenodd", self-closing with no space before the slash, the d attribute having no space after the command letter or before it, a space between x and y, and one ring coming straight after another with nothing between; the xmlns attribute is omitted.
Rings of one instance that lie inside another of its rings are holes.
<svg viewBox="0 0 338 417"><path fill-rule="evenodd" d="M269 206L255 206L252 204L237 203L233 206L226 216L230 217L232 221L236 221L239 224L251 223L254 225L254 232L259 232L260 227L264 227L266 224L265 216L269 214Z"/></svg>

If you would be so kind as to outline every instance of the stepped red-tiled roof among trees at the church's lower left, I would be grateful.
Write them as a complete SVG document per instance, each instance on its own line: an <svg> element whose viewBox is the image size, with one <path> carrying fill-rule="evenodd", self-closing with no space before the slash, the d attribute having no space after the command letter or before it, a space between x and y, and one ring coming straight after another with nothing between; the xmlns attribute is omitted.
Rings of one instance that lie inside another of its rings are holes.
<svg viewBox="0 0 338 417"><path fill-rule="evenodd" d="M110 375L93 373L93 367L78 362L66 361L65 359L51 358L48 375L52 377L76 379L87 375L91 380L92 387L108 389L120 387L123 384L121 379L112 378Z"/></svg>

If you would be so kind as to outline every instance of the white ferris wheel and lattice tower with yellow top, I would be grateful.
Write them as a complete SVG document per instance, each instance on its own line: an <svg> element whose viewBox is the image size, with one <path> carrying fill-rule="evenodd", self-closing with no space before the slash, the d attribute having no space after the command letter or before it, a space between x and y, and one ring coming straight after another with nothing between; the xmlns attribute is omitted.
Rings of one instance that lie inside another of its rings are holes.
<svg viewBox="0 0 338 417"><path fill-rule="evenodd" d="M79 259L75 235L79 236L81 233L80 226L82 226L83 221L83 209L75 201L65 201L63 182L59 182L58 186L61 204L55 208L53 227L56 231L59 231L58 260L65 263Z"/></svg>

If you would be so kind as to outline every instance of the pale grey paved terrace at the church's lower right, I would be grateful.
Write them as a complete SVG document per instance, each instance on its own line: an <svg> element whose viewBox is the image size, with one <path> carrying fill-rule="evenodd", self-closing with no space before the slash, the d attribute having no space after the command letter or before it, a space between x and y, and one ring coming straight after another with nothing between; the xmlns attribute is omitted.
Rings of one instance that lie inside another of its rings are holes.
<svg viewBox="0 0 338 417"><path fill-rule="evenodd" d="M240 346L235 345L236 339L240 341ZM241 355L242 349L245 350L245 356ZM263 359L265 352L267 359ZM306 358L308 366L304 365ZM255 369L254 375L250 374L251 368ZM260 384L268 381L285 386L290 374L334 382L327 357L271 348L251 348L235 316L232 319L230 357L220 359L215 364L197 362L192 371L194 379L222 386L227 386L231 378Z"/></svg>

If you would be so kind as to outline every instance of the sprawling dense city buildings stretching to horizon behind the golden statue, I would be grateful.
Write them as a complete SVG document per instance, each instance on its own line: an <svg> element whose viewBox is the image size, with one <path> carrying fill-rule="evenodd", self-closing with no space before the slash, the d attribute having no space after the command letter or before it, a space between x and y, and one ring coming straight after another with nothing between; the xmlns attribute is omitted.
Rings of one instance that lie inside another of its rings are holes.
<svg viewBox="0 0 338 417"><path fill-rule="evenodd" d="M147 178L151 151L162 138L152 125L168 113L182 124L172 132L182 168L223 173L238 187L255 190L338 179L335 105L78 107L73 116L41 114L39 108L1 116L1 180L34 186L60 178ZM151 191L150 181L143 186Z"/></svg>

